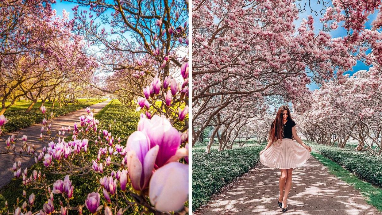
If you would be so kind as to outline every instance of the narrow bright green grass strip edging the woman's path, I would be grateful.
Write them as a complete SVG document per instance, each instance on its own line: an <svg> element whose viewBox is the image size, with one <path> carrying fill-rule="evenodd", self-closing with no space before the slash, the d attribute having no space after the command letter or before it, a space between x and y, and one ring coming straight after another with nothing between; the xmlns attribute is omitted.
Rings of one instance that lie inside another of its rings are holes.
<svg viewBox="0 0 382 215"><path fill-rule="evenodd" d="M373 205L380 212L382 212L382 189L372 186L372 184L362 181L356 175L353 175L350 171L345 170L337 163L333 162L329 158L324 155L318 154L316 152L312 152L317 160L319 160L322 164L328 167L330 174L337 176L342 181L353 186L357 189L361 194L365 197L366 202L370 205Z"/></svg>

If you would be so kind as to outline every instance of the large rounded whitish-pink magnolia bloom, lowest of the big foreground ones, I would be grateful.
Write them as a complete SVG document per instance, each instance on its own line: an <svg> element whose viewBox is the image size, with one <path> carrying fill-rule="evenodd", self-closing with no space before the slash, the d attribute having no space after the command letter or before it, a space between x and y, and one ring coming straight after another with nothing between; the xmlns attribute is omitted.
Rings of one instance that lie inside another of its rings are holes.
<svg viewBox="0 0 382 215"><path fill-rule="evenodd" d="M179 162L164 165L153 173L149 187L150 202L157 210L181 210L188 200L188 165Z"/></svg>

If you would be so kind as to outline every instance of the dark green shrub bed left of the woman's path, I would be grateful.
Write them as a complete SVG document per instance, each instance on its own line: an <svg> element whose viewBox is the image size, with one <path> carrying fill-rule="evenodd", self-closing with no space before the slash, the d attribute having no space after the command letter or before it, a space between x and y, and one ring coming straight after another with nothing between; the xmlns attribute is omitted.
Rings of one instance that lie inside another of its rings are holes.
<svg viewBox="0 0 382 215"><path fill-rule="evenodd" d="M263 148L250 146L223 152L212 149L210 154L204 153L204 148L193 148L192 210L206 204L212 194L254 167Z"/></svg>

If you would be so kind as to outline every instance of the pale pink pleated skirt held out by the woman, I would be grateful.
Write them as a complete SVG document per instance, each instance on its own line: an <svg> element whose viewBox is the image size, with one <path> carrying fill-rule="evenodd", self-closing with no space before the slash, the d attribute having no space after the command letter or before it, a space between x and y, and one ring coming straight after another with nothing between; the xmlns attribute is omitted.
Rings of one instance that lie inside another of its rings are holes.
<svg viewBox="0 0 382 215"><path fill-rule="evenodd" d="M309 150L292 139L278 139L260 155L260 162L267 167L290 169L303 165L310 158Z"/></svg>

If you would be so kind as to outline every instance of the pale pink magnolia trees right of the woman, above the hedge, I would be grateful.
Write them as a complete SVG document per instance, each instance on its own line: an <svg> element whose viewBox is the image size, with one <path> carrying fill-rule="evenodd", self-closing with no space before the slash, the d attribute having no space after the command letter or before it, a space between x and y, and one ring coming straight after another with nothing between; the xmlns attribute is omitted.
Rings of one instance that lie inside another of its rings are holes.
<svg viewBox="0 0 382 215"><path fill-rule="evenodd" d="M370 72L362 70L328 82L314 92L313 98L312 109L298 116L308 139L326 145L338 142L339 147L345 147L351 137L358 141L354 150L382 153L382 91Z"/></svg>

